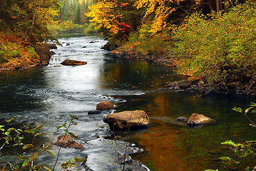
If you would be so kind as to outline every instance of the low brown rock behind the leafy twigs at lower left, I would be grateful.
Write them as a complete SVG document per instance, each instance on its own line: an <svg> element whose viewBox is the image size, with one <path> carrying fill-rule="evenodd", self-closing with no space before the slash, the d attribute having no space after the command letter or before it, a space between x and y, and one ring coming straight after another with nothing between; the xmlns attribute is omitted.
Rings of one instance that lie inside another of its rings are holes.
<svg viewBox="0 0 256 171"><path fill-rule="evenodd" d="M55 145L60 147L73 147L81 150L83 145L81 143L76 142L71 135L61 135L58 137L58 140L55 142Z"/></svg>

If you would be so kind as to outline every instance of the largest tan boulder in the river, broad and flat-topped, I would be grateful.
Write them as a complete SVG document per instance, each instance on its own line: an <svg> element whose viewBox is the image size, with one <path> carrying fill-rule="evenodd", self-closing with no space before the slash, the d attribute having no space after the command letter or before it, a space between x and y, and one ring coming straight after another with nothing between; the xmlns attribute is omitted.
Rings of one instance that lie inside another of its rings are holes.
<svg viewBox="0 0 256 171"><path fill-rule="evenodd" d="M111 129L139 129L148 127L148 115L143 110L113 113L103 118Z"/></svg>

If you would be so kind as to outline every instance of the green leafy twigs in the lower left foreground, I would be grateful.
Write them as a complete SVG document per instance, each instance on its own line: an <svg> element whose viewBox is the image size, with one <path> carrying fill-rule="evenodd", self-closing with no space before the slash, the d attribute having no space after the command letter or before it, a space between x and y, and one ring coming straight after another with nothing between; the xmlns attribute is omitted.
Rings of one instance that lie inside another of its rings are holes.
<svg viewBox="0 0 256 171"><path fill-rule="evenodd" d="M29 128L29 126L24 125L21 128L8 128L9 123L16 119L17 117L14 116L12 118L7 118L6 119L6 125L0 125L0 133L1 133L1 138L0 140L5 140L4 145L0 147L0 150L3 147L12 147L12 146L17 146L19 145L22 150L28 150L30 149L30 155L26 154L25 152L21 152L21 155L17 156L16 158L19 159L21 162L16 165L11 165L11 170L48 170L50 171L51 169L42 166L42 165L36 165L35 160L41 155L42 152L47 152L49 155L56 157L56 155L53 154L53 152L49 151L49 149L52 147L52 145L41 145L40 149L35 150L34 149L34 140L37 136L41 135L41 133L38 133L38 131L43 127L43 125L37 125L34 129ZM58 126L58 129L60 128L65 128L65 134L69 134L73 136L74 138L78 138L77 135L69 132L69 128L72 125L77 125L74 120L78 120L78 117L76 115L71 115L70 116L70 121L67 124L68 120L63 123L63 125ZM24 144L24 135L31 135L33 137L33 140L31 143L26 143ZM8 146L7 146L8 145ZM60 147L61 148L61 147ZM58 152L59 155L59 152ZM86 161L87 157L84 157L83 159L80 159L79 157L74 157L73 160L68 160L68 162L63 162L61 165L61 170L68 170L71 167L78 166L77 163L81 163ZM56 162L58 160L58 156L56 159ZM55 167L55 166L54 166ZM54 170L53 167L53 170Z"/></svg>

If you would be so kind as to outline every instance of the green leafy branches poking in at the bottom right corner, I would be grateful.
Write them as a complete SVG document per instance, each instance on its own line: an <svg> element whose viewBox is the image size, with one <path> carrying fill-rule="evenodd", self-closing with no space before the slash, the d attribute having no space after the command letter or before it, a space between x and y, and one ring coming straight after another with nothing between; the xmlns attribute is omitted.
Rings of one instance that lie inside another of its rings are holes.
<svg viewBox="0 0 256 171"><path fill-rule="evenodd" d="M249 108L242 110L242 108L232 108L237 113L242 113L245 117L250 120L250 125L252 127L256 127L255 123L248 117L248 113L256 113L256 103L251 103ZM226 170L239 170L238 165L240 165L240 159L251 156L252 158L256 156L256 140L247 140L243 143L235 143L232 140L226 140L225 142L221 142L222 145L229 145L229 149L232 150L235 154L235 160L231 157L220 157L222 163L225 165ZM256 166L251 168L251 171L256 170ZM218 170L205 170L205 171L218 171ZM245 171L250 171L250 167L247 166Z"/></svg>

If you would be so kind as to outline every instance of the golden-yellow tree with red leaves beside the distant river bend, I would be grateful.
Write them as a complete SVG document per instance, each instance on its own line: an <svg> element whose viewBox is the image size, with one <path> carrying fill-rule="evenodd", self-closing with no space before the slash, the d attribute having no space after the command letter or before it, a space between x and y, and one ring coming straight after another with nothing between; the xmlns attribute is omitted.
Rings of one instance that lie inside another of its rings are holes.
<svg viewBox="0 0 256 171"><path fill-rule="evenodd" d="M134 1L99 0L88 7L86 16L97 24L96 28L108 30L108 36L125 39L134 31L141 19L140 11L133 6Z"/></svg>

